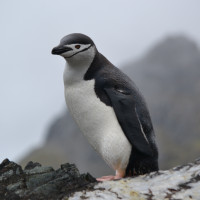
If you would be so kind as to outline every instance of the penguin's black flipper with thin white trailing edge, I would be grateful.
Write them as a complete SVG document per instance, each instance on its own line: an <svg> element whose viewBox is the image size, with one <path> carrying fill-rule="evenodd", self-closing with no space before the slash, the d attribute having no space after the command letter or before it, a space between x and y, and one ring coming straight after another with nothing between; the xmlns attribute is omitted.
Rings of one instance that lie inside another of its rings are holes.
<svg viewBox="0 0 200 200"><path fill-rule="evenodd" d="M130 91L104 88L118 122L132 147L142 154L152 155L152 149L137 114L134 96Z"/></svg>

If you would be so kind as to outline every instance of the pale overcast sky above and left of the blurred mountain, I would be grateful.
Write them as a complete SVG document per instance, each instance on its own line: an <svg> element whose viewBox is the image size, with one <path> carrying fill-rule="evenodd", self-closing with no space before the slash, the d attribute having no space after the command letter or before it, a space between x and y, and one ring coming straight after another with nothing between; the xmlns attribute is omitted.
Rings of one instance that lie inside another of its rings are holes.
<svg viewBox="0 0 200 200"><path fill-rule="evenodd" d="M64 59L51 55L73 32L89 35L118 67L167 35L200 44L199 0L1 0L0 162L42 144L65 107Z"/></svg>

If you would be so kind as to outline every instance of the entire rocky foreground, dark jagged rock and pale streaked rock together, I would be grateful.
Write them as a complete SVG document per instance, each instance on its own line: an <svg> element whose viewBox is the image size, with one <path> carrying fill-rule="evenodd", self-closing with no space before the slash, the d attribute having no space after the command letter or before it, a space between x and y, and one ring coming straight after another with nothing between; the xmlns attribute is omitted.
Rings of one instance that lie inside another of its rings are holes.
<svg viewBox="0 0 200 200"><path fill-rule="evenodd" d="M73 164L54 170L29 162L23 170L6 159L0 164L0 199L198 200L200 158L171 170L103 183L80 174Z"/></svg>

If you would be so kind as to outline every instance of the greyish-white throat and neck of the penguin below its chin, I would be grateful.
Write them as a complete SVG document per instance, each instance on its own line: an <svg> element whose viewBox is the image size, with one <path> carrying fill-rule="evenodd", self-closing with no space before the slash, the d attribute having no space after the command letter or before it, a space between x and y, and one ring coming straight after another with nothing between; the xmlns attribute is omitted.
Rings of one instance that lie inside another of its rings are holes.
<svg viewBox="0 0 200 200"><path fill-rule="evenodd" d="M96 48L91 47L87 52L85 52L85 55L82 53L82 55L78 57L77 54L76 57L74 56L72 59L66 59L65 71L63 74L65 86L80 83L84 80L84 75L90 68L97 53Z"/></svg>

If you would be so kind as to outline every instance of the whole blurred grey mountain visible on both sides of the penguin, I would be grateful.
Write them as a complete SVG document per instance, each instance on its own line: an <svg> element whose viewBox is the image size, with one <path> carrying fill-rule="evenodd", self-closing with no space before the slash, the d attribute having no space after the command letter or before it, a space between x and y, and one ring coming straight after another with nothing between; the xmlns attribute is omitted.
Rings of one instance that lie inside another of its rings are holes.
<svg viewBox="0 0 200 200"><path fill-rule="evenodd" d="M161 168L199 156L200 50L196 43L185 36L170 36L137 61L125 64L123 70L147 101ZM27 155L22 164L28 160L54 167L69 161L76 163L81 172L89 171L94 176L112 173L65 109L50 125L44 146Z"/></svg>

